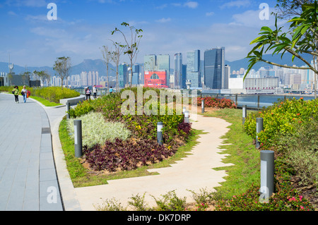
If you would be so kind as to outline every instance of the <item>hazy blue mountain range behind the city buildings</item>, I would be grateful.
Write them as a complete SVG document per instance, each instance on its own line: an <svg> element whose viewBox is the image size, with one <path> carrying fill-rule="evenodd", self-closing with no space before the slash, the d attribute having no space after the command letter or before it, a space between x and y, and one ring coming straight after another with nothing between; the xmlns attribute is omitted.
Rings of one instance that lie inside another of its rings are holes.
<svg viewBox="0 0 318 225"><path fill-rule="evenodd" d="M312 56L310 56L309 54L303 55L302 57L304 57L307 61L312 61ZM282 58L281 58L281 54L278 54L278 55L275 54L273 56L271 54L266 54L264 55L264 59L273 61L278 64L282 64L282 65L286 64L288 66L293 66L293 65L304 66L305 65L305 63L298 58L295 58L294 61L291 61L291 55L288 53L284 54ZM249 65L249 59L243 58L236 61L225 60L225 64L228 64L231 67L230 68L231 72L239 71L240 68L247 69ZM23 66L14 65L14 63L13 63L13 66L14 66L13 72L15 72L16 74L24 73L25 69L27 69L27 71L30 71L30 72L47 71L50 75L55 74L55 71L53 70L53 68L49 66L41 66L41 67L30 66L28 68L25 68ZM255 64L253 68L255 71L257 71L261 67L266 68L269 66L271 65L269 65L268 63L259 62ZM87 71L87 72L98 71L100 76L104 76L106 75L107 68L104 61L102 61L101 59L85 59L82 63L72 66L71 74L81 74L82 71ZM0 62L0 72L8 73L8 63ZM115 73L116 73L116 67L110 63L109 75L115 76Z"/></svg>

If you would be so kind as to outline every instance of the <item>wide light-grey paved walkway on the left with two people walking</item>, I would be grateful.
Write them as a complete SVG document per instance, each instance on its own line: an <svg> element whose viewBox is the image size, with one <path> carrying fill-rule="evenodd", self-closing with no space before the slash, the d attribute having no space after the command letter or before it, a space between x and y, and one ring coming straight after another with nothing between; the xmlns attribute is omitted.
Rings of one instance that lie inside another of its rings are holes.
<svg viewBox="0 0 318 225"><path fill-rule="evenodd" d="M47 114L19 101L0 94L0 210L64 210Z"/></svg>

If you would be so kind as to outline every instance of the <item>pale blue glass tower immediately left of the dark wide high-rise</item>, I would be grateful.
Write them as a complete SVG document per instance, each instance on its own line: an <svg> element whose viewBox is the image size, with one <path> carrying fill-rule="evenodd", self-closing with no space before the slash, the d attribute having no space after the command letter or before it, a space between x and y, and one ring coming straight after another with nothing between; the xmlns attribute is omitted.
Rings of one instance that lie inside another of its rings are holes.
<svg viewBox="0 0 318 225"><path fill-rule="evenodd" d="M200 87L200 50L187 52L187 80L190 87Z"/></svg>

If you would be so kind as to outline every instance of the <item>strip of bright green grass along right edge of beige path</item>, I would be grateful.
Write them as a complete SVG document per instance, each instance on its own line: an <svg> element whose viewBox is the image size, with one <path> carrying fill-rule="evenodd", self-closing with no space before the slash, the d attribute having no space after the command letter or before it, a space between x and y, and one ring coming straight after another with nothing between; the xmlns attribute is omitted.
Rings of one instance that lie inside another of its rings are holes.
<svg viewBox="0 0 318 225"><path fill-rule="evenodd" d="M250 111L247 111L247 114ZM223 118L232 123L230 130L222 138L226 139L224 143L232 145L223 145L221 149L224 154L230 156L223 159L224 163L232 163L234 166L225 166L216 168L216 170L227 171L228 176L222 186L216 188L222 193L228 193L227 197L244 193L249 185L260 182L260 153L253 145L253 140L242 127L242 109L220 109L208 111L204 116L213 116Z"/></svg>

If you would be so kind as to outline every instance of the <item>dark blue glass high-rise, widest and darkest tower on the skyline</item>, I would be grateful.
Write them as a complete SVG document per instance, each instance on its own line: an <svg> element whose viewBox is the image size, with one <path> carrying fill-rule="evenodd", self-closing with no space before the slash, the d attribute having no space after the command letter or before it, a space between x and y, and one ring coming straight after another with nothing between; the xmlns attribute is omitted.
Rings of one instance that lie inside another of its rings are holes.
<svg viewBox="0 0 318 225"><path fill-rule="evenodd" d="M225 47L204 51L204 85L211 89L226 89Z"/></svg>

